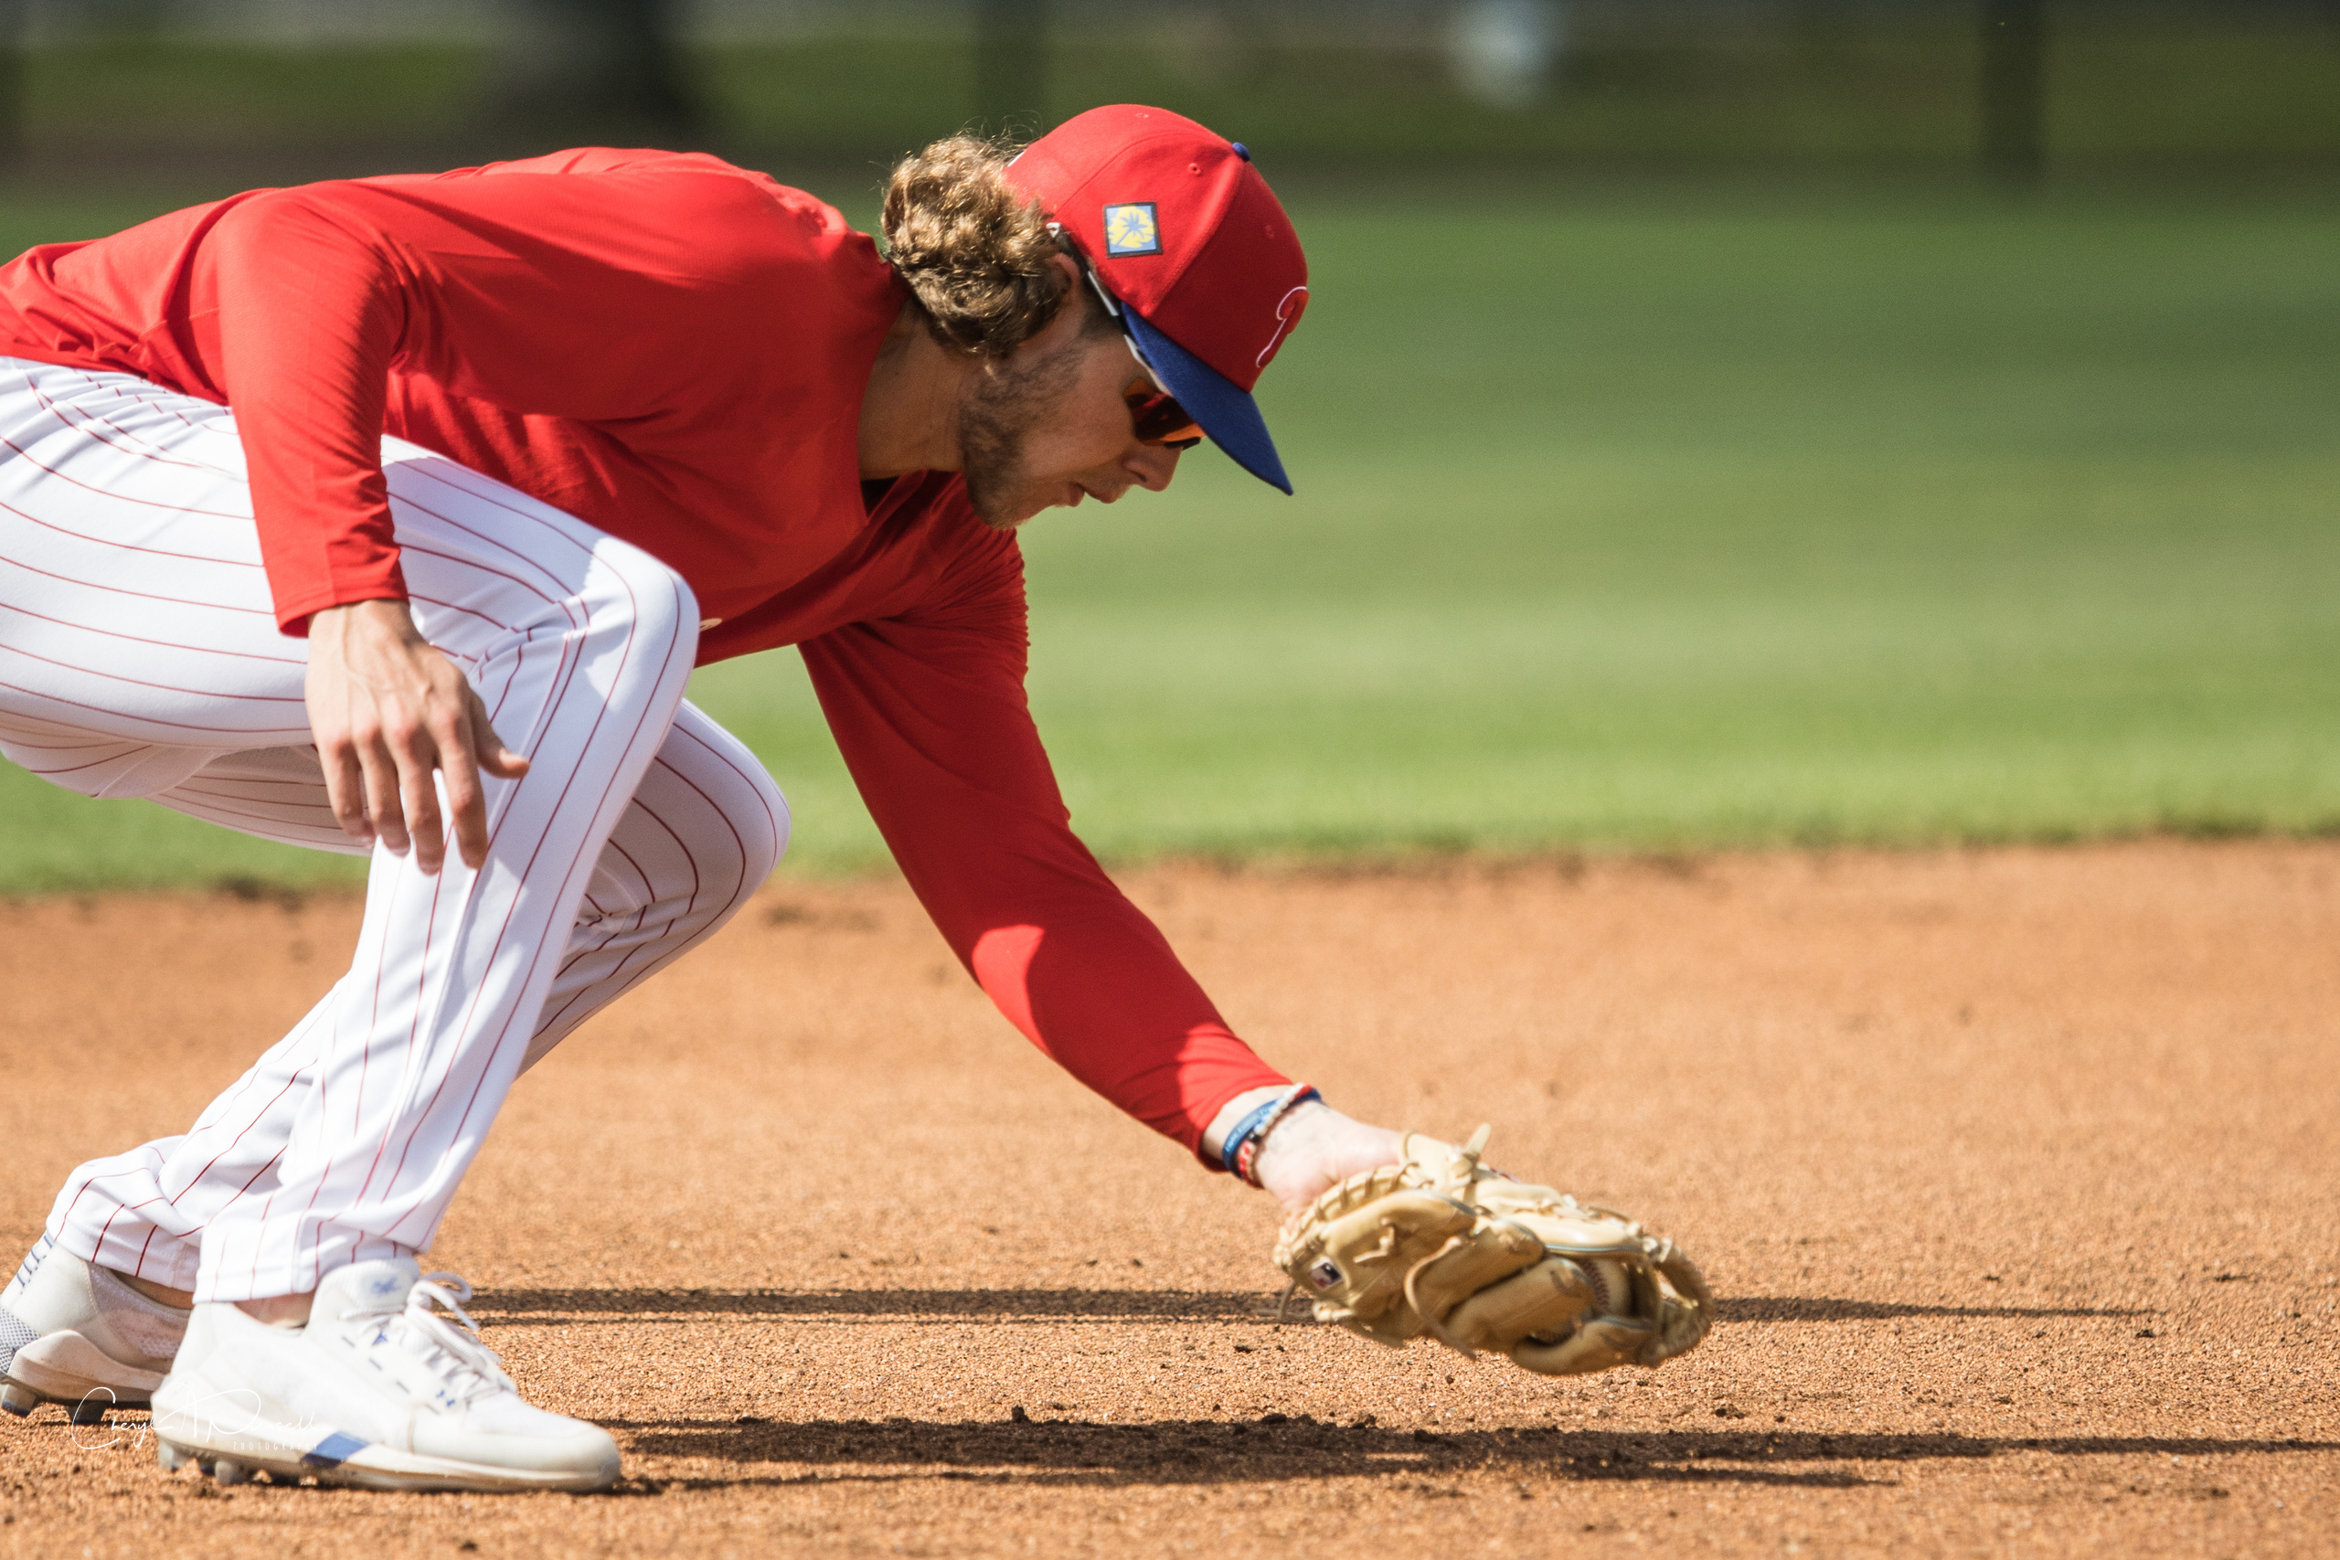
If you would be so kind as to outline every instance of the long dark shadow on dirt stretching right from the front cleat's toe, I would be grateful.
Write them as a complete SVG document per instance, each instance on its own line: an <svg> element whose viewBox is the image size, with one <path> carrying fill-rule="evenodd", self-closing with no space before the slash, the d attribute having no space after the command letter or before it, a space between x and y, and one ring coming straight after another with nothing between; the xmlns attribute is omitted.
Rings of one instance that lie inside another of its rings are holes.
<svg viewBox="0 0 2340 1560"><path fill-rule="evenodd" d="M1460 1434L1317 1424L1294 1417L1090 1424L1081 1420L922 1420L805 1424L760 1420L604 1420L648 1457L803 1464L789 1473L648 1480L658 1487L983 1480L1037 1485L1275 1483L1287 1478L1542 1476L1580 1480L1856 1487L1900 1483L1879 1466L2047 1452L2057 1457L2232 1457L2331 1452L2333 1441L2195 1436L1886 1436L1792 1431L1486 1429Z"/></svg>

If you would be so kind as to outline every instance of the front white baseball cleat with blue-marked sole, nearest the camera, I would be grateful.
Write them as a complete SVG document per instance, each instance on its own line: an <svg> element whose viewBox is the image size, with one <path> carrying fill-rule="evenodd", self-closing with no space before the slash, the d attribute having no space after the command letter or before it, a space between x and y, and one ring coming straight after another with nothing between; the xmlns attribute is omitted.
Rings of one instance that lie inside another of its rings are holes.
<svg viewBox="0 0 2340 1560"><path fill-rule="evenodd" d="M470 1284L407 1258L335 1268L309 1326L197 1305L154 1392L166 1469L370 1490L606 1490L618 1443L522 1401L463 1312Z"/></svg>

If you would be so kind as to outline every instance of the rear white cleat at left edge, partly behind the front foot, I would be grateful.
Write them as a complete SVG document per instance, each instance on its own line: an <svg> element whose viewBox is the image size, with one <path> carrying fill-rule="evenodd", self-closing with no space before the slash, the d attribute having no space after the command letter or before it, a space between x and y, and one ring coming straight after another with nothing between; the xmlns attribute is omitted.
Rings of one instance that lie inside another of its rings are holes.
<svg viewBox="0 0 2340 1560"><path fill-rule="evenodd" d="M42 1235L0 1293L0 1408L63 1403L75 1424L145 1408L171 1371L187 1312Z"/></svg>

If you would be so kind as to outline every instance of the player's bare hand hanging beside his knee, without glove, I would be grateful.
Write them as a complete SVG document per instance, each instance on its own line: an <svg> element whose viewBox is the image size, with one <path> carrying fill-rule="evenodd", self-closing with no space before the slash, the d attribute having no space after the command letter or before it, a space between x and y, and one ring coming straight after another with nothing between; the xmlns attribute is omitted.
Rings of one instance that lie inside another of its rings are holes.
<svg viewBox="0 0 2340 1560"><path fill-rule="evenodd" d="M473 870L487 863L480 772L529 772L405 601L351 601L309 617L309 730L342 830L393 856L412 849L424 872L447 858L433 772L447 776L456 849Z"/></svg>

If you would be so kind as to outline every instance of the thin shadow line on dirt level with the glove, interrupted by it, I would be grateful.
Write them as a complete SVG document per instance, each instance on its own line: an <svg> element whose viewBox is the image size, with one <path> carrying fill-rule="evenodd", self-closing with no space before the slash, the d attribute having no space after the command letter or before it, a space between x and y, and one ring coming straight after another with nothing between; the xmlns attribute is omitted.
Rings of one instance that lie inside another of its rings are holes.
<svg viewBox="0 0 2340 1560"><path fill-rule="evenodd" d="M702 1321L709 1317L870 1317L882 1321L1275 1321L1275 1293L1240 1289L496 1289L470 1310L501 1326ZM2059 1305L1902 1305L1821 1296L1727 1298L1722 1321L1884 1321L1898 1317L2150 1317ZM1310 1324L1299 1300L1287 1324Z"/></svg>

